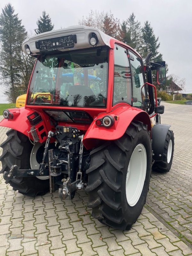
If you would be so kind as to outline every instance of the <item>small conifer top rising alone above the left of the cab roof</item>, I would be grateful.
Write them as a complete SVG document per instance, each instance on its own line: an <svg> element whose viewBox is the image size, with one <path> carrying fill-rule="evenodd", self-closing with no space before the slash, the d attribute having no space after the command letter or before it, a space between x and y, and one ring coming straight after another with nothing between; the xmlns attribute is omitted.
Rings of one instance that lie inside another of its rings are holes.
<svg viewBox="0 0 192 256"><path fill-rule="evenodd" d="M47 14L45 11L42 12L42 17L40 16L36 24L38 27L35 29L36 34L51 31L54 28L54 24L52 24L49 14Z"/></svg>

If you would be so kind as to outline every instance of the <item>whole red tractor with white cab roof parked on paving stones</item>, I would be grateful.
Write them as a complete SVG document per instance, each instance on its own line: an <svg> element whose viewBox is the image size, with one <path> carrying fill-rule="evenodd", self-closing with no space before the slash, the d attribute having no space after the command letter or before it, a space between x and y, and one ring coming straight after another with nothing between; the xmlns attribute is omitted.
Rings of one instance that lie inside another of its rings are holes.
<svg viewBox="0 0 192 256"><path fill-rule="evenodd" d="M25 107L6 109L1 126L6 183L28 196L85 188L92 216L130 229L146 201L151 169L168 172L174 148L156 83L165 62L146 65L128 45L90 27L32 36L22 50L36 58ZM155 96L154 96L155 95ZM151 119L156 124L153 126Z"/></svg>

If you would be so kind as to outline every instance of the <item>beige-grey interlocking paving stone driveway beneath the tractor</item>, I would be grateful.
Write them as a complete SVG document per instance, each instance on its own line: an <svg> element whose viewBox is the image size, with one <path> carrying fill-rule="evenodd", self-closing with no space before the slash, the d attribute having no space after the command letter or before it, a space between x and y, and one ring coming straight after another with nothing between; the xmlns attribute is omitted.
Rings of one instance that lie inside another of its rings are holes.
<svg viewBox="0 0 192 256"><path fill-rule="evenodd" d="M85 192L72 201L57 193L23 196L0 176L0 256L192 255L192 106L163 103L175 134L172 169L152 173L142 214L129 231L91 217ZM7 128L0 127L0 142Z"/></svg>

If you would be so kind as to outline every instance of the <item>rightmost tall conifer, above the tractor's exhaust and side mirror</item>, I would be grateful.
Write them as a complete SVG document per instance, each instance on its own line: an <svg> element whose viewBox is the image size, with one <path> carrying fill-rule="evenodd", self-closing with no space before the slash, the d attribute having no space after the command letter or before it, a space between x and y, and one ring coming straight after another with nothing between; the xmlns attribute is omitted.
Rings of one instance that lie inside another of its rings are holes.
<svg viewBox="0 0 192 256"><path fill-rule="evenodd" d="M153 28L148 20L144 23L142 30L142 57L146 58L149 52L153 52L151 60L153 61L162 61L162 54L158 52L160 43L158 43L159 37L156 38Z"/></svg>

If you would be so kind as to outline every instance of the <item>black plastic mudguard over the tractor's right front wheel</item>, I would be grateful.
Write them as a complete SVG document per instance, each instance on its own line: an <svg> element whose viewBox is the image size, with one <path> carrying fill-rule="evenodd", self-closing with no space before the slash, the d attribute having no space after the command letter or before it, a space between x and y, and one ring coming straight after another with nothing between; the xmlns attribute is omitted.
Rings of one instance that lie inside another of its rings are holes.
<svg viewBox="0 0 192 256"><path fill-rule="evenodd" d="M162 161L165 139L167 132L171 125L169 124L155 124L152 127L152 149L153 149L153 160Z"/></svg>

